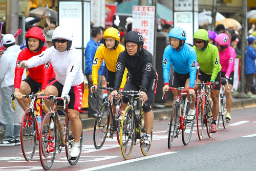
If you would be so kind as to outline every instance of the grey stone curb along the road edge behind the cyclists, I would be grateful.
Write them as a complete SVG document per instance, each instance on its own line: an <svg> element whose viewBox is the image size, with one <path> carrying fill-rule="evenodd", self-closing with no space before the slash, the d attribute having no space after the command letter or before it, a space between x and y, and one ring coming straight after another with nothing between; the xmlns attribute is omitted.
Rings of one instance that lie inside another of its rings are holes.
<svg viewBox="0 0 256 171"><path fill-rule="evenodd" d="M255 98L233 98L231 109L241 109L241 108L250 108L256 106L256 99ZM166 120L169 119L170 113L172 112L171 107L164 107L164 108L155 108L153 109L154 112L154 121L159 120ZM87 115L87 114L82 114ZM61 116L61 118L65 118ZM94 129L95 118L83 118L82 117L82 129L83 130L93 130ZM0 141L4 138L4 129L3 126L0 127Z"/></svg>

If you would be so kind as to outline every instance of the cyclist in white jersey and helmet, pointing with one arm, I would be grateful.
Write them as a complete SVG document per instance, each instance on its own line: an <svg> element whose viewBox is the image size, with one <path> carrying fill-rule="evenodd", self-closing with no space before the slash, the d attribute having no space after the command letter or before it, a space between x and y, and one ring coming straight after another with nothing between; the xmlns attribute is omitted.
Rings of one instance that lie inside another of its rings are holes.
<svg viewBox="0 0 256 171"><path fill-rule="evenodd" d="M50 82L46 87L45 96L54 95L67 98L71 131L74 135L74 146L69 156L77 157L80 154L80 135L82 132L79 111L82 105L84 76L81 68L81 55L74 47L71 47L72 40L72 32L66 27L58 26L53 32L53 46L28 61L22 61L20 66L33 68L46 61L52 63L56 72L56 80ZM48 145L49 151L52 152L54 145Z"/></svg>

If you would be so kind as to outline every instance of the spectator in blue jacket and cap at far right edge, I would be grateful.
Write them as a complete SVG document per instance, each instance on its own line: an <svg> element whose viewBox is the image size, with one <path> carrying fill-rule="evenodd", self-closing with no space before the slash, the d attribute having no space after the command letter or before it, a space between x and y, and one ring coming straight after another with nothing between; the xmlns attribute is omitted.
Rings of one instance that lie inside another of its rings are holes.
<svg viewBox="0 0 256 171"><path fill-rule="evenodd" d="M256 66L254 60L256 59L256 49L253 47L255 44L255 38L249 36L248 39L248 46L246 48L245 54L245 93L248 97L252 97L251 93L251 84L253 83L253 77L256 73Z"/></svg>

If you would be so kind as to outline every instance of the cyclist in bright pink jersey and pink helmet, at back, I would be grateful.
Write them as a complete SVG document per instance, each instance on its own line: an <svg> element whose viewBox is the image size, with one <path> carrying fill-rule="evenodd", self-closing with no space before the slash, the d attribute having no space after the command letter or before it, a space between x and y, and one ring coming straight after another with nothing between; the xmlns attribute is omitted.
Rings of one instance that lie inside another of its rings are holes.
<svg viewBox="0 0 256 171"><path fill-rule="evenodd" d="M221 63L221 77L225 77L228 80L228 87L225 84L225 95L226 95L226 121L231 120L230 110L232 105L231 90L233 87L234 79L234 60L236 59L236 51L230 47L229 36L225 33L220 33L215 38L217 48L219 50L220 63ZM224 82L225 83L225 82Z"/></svg>

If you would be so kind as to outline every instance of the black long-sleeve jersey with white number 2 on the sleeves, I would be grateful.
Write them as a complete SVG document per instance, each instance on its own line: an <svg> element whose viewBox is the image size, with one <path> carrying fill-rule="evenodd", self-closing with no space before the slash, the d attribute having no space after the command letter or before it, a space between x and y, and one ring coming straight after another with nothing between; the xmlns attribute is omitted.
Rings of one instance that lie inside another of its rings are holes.
<svg viewBox="0 0 256 171"><path fill-rule="evenodd" d="M118 90L123 72L127 68L131 78L141 82L141 91L146 92L148 81L156 78L156 69L153 67L153 56L145 49L137 56L130 56L126 51L119 54L116 63L116 76L114 81L114 90Z"/></svg>

